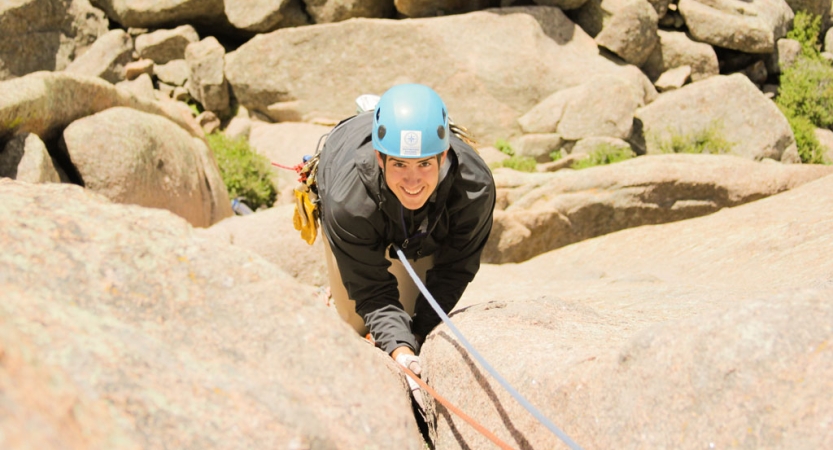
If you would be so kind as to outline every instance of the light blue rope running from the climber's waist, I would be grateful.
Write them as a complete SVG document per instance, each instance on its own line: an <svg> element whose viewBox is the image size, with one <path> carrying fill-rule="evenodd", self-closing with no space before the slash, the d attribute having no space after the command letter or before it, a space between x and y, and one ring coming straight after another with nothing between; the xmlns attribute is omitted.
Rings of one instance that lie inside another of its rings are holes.
<svg viewBox="0 0 833 450"><path fill-rule="evenodd" d="M422 292L422 295L425 296L425 298L428 300L428 303L431 304L431 307L434 308L434 311L436 311L437 315L440 316L440 319L442 319L443 322L445 322L445 324L448 325L448 328L451 329L451 332L454 333L455 336L457 336L457 339L460 341L460 343L462 343L466 350L468 350L469 353L472 356L474 356L474 359L476 359L477 362L479 362L480 365L484 369L486 369L486 371L489 372L489 374L491 374L492 377L494 377L498 381L498 383L500 383L500 385L503 386L504 389L506 389L510 394L512 394L512 397L514 397L515 400L517 400L518 403L521 404L521 406L526 408L526 410L529 411L530 414L532 414L536 419L538 419L538 421L541 422L545 427L547 427L553 434L558 436L558 438L564 441L564 443L567 444L571 449L582 450L582 448L578 444L573 442L573 440L570 439L570 437L567 436L567 434L565 434L563 431L561 431L560 428L558 428L554 423L547 419L547 417L543 415L541 411L538 411L537 408L532 406L532 404L529 403L529 401L523 395L521 395L517 390L515 390L515 388L513 388L512 385L509 384L509 382L507 382L502 376L500 376L500 374L482 356L480 356L480 353L478 353L477 350L475 350L474 347L472 347L469 341L463 336L463 333L461 333L460 330L458 330L457 327L453 323L451 323L451 319L448 317L445 311L443 311L443 309L440 308L439 303L437 303L437 301L434 299L431 293L428 292L428 289L422 283L422 280L420 280L419 276L417 276L416 272L414 272L414 269L413 267L411 267L411 264L408 263L408 259L405 258L405 254L402 253L402 250L399 249L399 247L396 245L394 245L393 248L396 250L396 255L399 257L399 260L402 261L402 265L405 266L405 270L408 271L408 274L414 280L414 283L416 283L420 292Z"/></svg>

